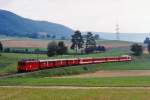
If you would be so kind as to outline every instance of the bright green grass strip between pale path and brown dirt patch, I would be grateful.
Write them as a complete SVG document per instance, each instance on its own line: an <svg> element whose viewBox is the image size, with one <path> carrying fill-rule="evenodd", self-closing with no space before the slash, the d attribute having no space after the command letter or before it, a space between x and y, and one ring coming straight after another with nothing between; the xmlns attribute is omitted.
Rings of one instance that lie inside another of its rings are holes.
<svg viewBox="0 0 150 100"><path fill-rule="evenodd" d="M1 86L101 86L101 87L150 87L150 77L104 78L3 78Z"/></svg>

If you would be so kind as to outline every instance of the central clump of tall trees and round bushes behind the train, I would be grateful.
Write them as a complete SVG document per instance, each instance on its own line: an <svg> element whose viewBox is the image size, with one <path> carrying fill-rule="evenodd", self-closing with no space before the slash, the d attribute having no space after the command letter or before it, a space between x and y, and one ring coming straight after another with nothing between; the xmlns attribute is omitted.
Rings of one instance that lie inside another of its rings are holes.
<svg viewBox="0 0 150 100"><path fill-rule="evenodd" d="M104 52L106 48L104 46L97 46L96 39L99 39L99 35L93 35L92 32L87 32L86 35L82 35L80 31L75 31L71 38L71 46L72 50L76 51L76 54L79 53L93 53L94 51L97 52ZM65 46L63 41L58 43L50 42L48 44L48 52L47 55L54 56L54 55L62 55L68 53L68 47Z"/></svg>

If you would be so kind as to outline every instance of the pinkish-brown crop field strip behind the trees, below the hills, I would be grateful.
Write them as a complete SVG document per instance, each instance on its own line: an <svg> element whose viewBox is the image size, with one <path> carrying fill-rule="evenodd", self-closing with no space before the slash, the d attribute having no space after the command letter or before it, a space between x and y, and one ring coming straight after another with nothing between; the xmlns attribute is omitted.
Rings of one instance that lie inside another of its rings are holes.
<svg viewBox="0 0 150 100"><path fill-rule="evenodd" d="M34 40L34 39L10 39L10 40L1 40L4 47L12 47L12 48L47 48L47 45L52 40ZM69 40L55 40L64 41L65 44L70 46L71 42ZM104 45L106 47L127 47L132 44L132 42L125 41L115 41L115 40L98 40L97 44Z"/></svg>

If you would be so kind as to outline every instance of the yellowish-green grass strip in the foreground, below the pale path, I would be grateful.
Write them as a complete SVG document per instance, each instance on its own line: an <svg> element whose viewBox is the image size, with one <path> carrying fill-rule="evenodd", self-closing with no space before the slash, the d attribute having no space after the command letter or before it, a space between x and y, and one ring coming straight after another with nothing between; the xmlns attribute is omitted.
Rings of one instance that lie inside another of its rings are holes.
<svg viewBox="0 0 150 100"><path fill-rule="evenodd" d="M1 100L149 100L149 89L0 88Z"/></svg>

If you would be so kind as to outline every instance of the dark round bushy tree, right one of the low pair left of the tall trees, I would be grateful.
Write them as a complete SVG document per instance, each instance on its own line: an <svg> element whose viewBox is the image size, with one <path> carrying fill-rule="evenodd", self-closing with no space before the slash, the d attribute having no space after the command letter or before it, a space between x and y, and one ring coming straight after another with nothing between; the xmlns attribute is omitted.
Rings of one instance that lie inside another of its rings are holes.
<svg viewBox="0 0 150 100"><path fill-rule="evenodd" d="M57 54L63 55L66 54L68 51L67 47L65 46L63 41L60 41L58 43L58 48L57 48Z"/></svg>

